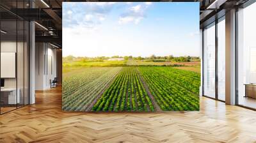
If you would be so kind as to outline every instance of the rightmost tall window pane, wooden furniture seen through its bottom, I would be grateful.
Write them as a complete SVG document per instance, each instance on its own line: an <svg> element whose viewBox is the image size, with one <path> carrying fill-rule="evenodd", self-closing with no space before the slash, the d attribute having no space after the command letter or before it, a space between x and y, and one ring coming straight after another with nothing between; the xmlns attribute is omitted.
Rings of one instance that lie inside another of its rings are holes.
<svg viewBox="0 0 256 143"><path fill-rule="evenodd" d="M237 103L256 109L256 3L237 12Z"/></svg>

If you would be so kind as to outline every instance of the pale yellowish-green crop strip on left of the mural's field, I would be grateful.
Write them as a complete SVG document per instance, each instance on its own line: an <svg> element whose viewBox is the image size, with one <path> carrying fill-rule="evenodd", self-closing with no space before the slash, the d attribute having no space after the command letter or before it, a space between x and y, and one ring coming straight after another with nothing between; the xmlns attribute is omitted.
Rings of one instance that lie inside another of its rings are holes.
<svg viewBox="0 0 256 143"><path fill-rule="evenodd" d="M62 109L84 111L122 70L92 68L63 79Z"/></svg>

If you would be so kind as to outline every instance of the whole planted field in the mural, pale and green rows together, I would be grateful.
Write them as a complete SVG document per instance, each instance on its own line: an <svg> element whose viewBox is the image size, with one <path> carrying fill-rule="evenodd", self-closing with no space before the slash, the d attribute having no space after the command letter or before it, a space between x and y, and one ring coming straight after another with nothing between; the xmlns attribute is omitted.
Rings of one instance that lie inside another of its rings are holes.
<svg viewBox="0 0 256 143"><path fill-rule="evenodd" d="M65 67L63 110L199 110L200 73L172 66Z"/></svg>

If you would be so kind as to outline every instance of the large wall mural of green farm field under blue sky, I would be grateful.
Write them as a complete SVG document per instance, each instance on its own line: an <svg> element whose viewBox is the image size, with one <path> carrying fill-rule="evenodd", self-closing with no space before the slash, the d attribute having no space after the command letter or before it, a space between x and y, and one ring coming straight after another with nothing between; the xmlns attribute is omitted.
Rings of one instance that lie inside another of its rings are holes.
<svg viewBox="0 0 256 143"><path fill-rule="evenodd" d="M62 109L199 110L199 3L63 3Z"/></svg>

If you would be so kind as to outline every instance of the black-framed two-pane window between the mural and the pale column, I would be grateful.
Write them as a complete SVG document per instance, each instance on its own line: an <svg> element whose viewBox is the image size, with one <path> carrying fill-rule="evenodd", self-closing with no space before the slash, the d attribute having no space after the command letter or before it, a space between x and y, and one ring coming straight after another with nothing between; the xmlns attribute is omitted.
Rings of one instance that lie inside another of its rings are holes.
<svg viewBox="0 0 256 143"><path fill-rule="evenodd" d="M202 45L203 96L225 102L225 15L204 27ZM211 46L211 49L209 49L209 46ZM207 52L212 53L209 55ZM209 57L211 57L211 60ZM211 79L211 81L207 78Z"/></svg>

